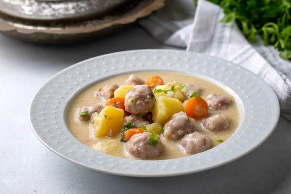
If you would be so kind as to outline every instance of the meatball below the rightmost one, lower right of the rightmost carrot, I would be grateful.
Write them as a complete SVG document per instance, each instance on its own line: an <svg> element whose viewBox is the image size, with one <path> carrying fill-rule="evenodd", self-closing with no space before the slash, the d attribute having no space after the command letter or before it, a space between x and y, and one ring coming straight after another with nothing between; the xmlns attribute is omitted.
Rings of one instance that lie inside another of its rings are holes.
<svg viewBox="0 0 291 194"><path fill-rule="evenodd" d="M226 114L216 114L205 119L202 124L205 129L224 130L228 128L229 122L230 118Z"/></svg>

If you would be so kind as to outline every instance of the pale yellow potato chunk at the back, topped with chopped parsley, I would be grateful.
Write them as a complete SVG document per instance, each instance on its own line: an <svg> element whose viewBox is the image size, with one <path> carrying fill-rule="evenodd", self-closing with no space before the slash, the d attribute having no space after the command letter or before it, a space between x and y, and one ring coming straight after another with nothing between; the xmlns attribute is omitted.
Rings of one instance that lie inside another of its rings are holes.
<svg viewBox="0 0 291 194"><path fill-rule="evenodd" d="M155 92L155 97L156 98L163 97L163 96L173 97L173 98L180 100L181 102L184 102L185 95L182 92L181 86L177 81L169 82L169 83L166 83L164 85L158 85L156 87L156 90L158 90L158 89L169 90L169 89L171 89L172 86L174 86L174 91L168 91L166 94L164 92Z"/></svg>

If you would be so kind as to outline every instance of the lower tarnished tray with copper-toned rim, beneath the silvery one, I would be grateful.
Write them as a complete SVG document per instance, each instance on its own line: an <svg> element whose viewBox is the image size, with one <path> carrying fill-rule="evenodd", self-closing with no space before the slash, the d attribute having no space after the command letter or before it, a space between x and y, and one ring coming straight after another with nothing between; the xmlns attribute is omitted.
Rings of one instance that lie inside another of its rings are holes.
<svg viewBox="0 0 291 194"><path fill-rule="evenodd" d="M24 41L44 44L71 44L123 29L138 18L163 7L165 0L139 0L123 6L114 14L84 21L24 20L0 13L0 32Z"/></svg>

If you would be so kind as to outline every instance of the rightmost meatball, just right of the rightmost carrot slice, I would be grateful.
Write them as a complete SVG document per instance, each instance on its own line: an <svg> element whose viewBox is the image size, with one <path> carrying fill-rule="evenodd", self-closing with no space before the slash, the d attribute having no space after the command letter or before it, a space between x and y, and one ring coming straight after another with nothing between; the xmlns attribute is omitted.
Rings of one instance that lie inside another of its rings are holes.
<svg viewBox="0 0 291 194"><path fill-rule="evenodd" d="M205 100L212 111L225 110L232 103L231 97L216 94L210 94Z"/></svg>

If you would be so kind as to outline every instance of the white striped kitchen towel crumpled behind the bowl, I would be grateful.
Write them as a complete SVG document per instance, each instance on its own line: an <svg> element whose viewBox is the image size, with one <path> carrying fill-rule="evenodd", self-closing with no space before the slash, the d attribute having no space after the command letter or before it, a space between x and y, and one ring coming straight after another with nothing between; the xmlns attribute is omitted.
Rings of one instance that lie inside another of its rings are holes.
<svg viewBox="0 0 291 194"><path fill-rule="evenodd" d="M220 57L251 70L275 91L281 115L291 120L291 63L258 37L249 43L235 22L220 23L222 9L207 0L167 0L164 9L139 21L164 44Z"/></svg>

